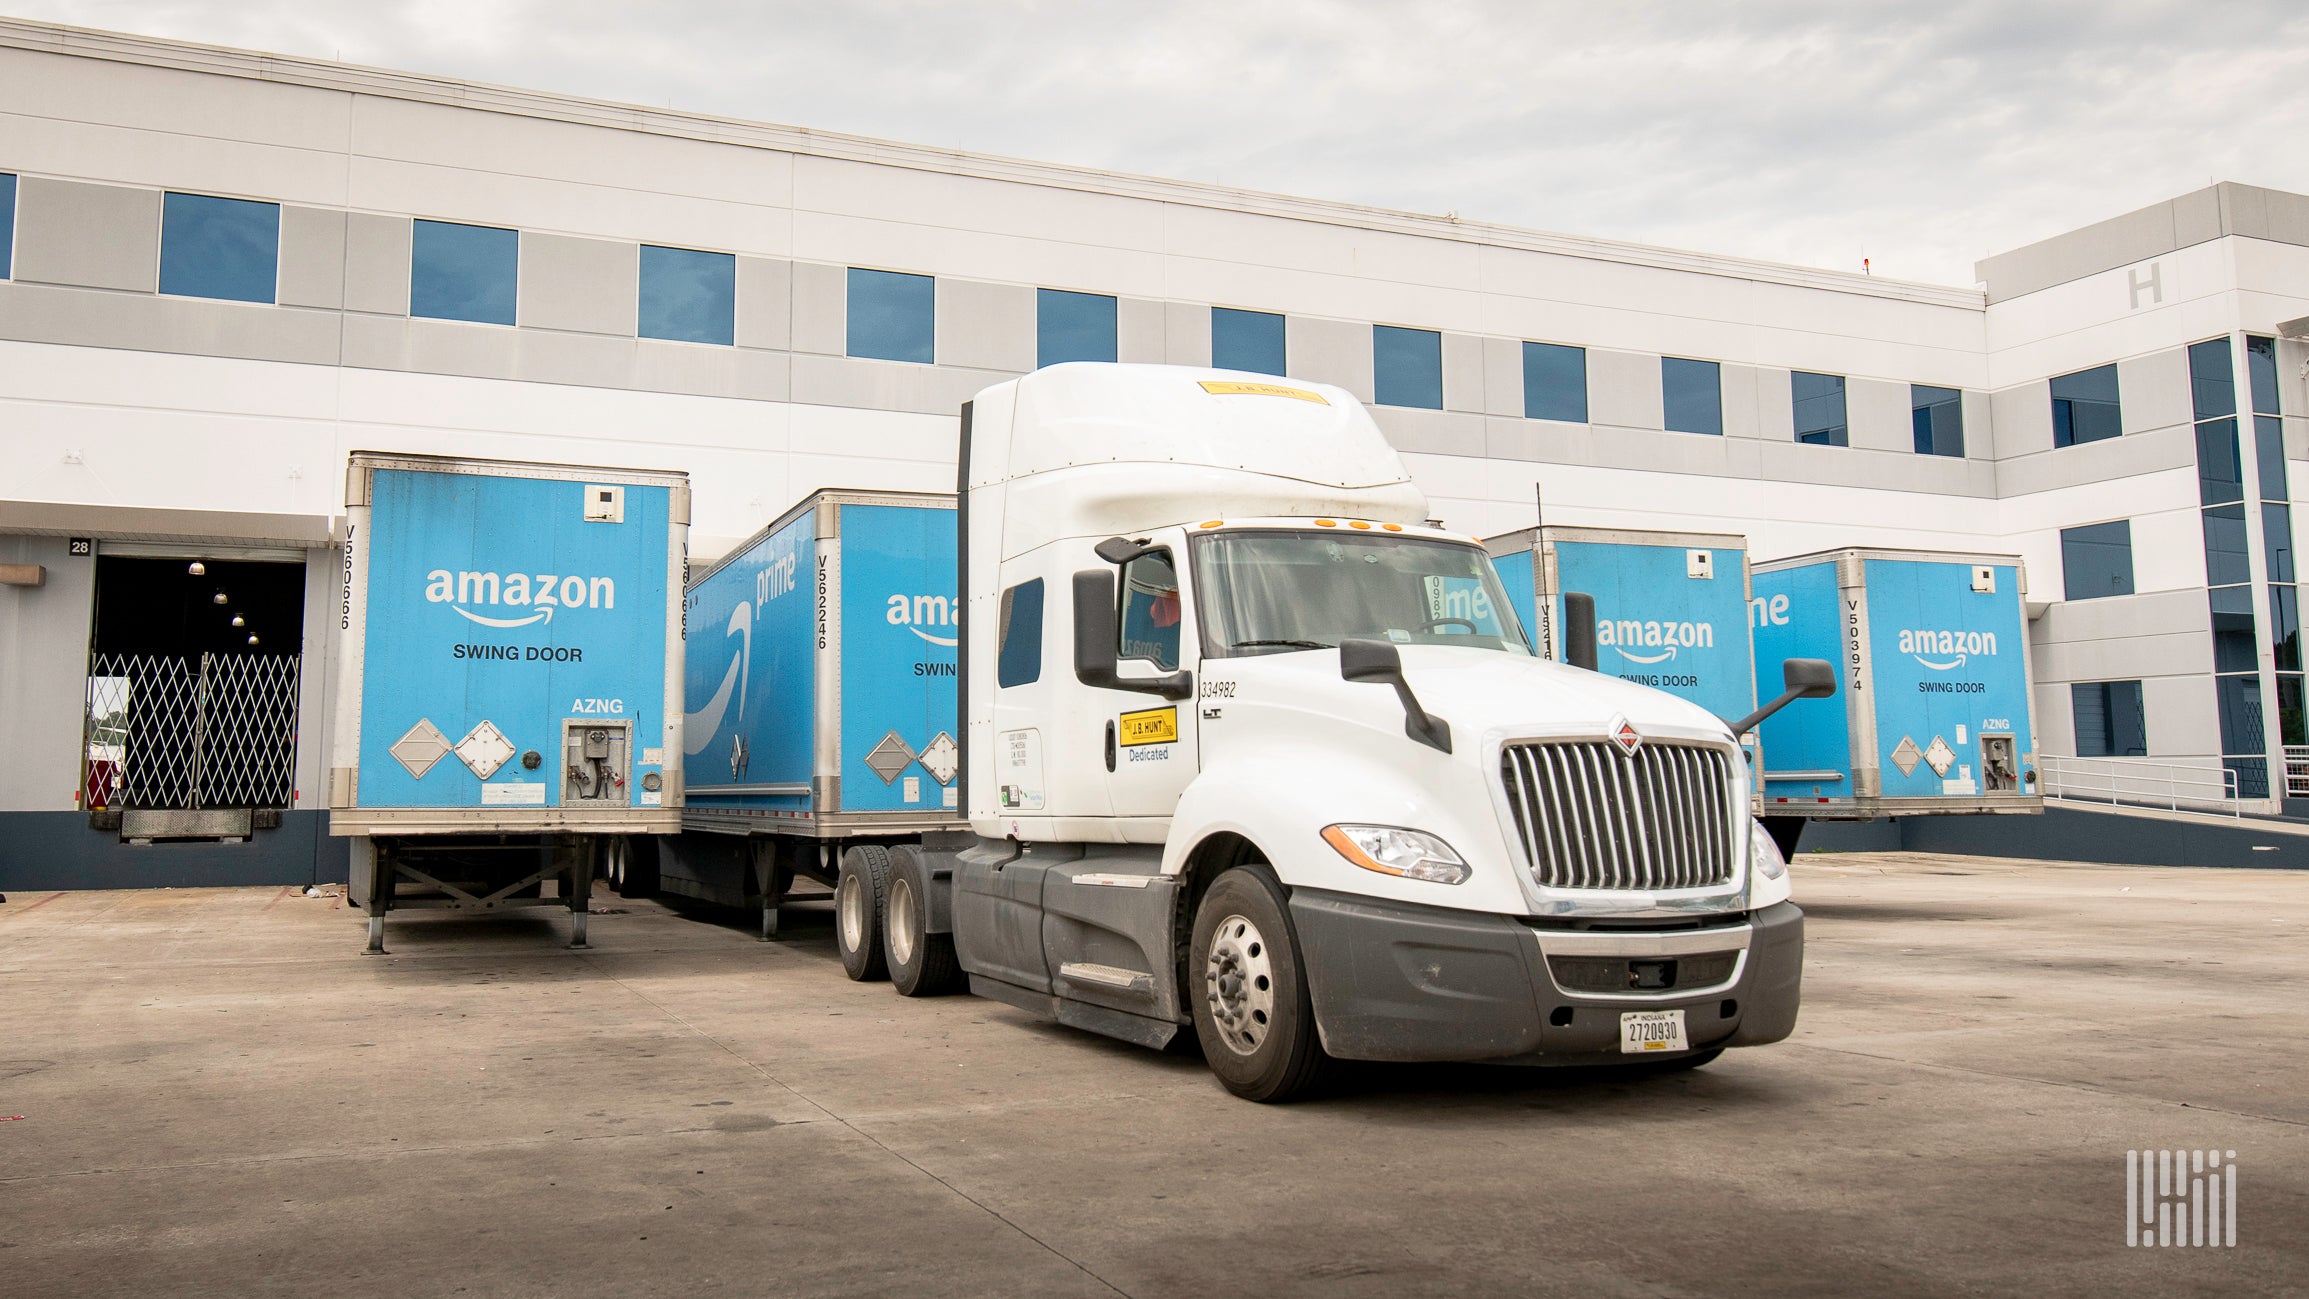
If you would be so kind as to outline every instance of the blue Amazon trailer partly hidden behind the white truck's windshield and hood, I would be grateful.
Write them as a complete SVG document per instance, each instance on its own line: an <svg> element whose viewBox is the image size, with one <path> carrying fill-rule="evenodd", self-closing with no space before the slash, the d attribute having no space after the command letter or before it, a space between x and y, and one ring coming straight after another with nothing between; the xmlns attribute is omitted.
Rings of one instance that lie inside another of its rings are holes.
<svg viewBox="0 0 2309 1299"><path fill-rule="evenodd" d="M1596 669L1699 704L1755 711L1748 542L1727 533L1522 528L1482 542L1540 658L1563 658L1563 593L1596 598Z"/></svg>

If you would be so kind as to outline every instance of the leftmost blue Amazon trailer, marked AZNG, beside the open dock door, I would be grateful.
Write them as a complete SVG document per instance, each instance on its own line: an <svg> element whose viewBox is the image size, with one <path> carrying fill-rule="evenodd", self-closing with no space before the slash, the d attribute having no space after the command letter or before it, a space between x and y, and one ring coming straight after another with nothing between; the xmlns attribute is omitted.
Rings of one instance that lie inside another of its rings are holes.
<svg viewBox="0 0 2309 1299"><path fill-rule="evenodd" d="M328 808L372 953L411 907L584 946L596 870L679 828L688 515L681 473L353 452Z"/></svg>

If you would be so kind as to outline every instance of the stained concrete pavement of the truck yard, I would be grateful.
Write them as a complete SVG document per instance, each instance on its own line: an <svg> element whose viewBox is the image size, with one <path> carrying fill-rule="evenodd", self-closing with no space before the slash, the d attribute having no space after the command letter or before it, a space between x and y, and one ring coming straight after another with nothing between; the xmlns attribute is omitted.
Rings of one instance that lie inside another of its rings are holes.
<svg viewBox="0 0 2309 1299"><path fill-rule="evenodd" d="M2309 874L1806 856L1796 1038L1669 1078L1198 1059L605 898L0 907L7 1294L2300 1292ZM2233 1251L2124 1151L2235 1149Z"/></svg>

